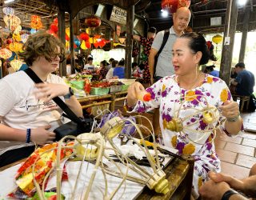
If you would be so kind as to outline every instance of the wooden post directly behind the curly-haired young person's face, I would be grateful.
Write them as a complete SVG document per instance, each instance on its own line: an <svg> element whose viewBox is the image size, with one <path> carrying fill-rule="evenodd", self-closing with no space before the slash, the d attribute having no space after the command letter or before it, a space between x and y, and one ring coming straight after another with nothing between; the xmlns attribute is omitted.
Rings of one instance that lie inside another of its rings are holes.
<svg viewBox="0 0 256 200"><path fill-rule="evenodd" d="M62 41L64 46L66 46L65 34L65 11L60 10L58 7L58 38ZM59 65L59 76L66 76L66 61Z"/></svg>

